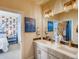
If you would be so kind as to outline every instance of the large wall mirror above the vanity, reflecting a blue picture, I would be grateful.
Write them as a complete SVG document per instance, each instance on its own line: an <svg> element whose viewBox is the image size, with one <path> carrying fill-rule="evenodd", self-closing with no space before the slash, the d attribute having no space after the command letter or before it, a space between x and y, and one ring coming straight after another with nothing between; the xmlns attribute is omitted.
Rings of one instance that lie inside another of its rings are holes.
<svg viewBox="0 0 79 59"><path fill-rule="evenodd" d="M69 42L73 39L73 20L58 21L49 18L43 19L43 38L46 40L55 40L55 36L61 36L61 41ZM76 32L77 28L76 28ZM56 35L54 35L56 34ZM59 39L59 38L58 38Z"/></svg>

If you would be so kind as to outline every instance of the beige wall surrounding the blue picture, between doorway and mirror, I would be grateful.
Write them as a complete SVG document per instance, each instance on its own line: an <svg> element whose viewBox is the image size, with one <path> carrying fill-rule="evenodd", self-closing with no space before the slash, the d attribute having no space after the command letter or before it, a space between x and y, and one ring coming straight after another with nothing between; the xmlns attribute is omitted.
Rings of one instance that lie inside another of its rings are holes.
<svg viewBox="0 0 79 59"><path fill-rule="evenodd" d="M41 23L41 9L39 5L36 5L29 0L0 0L0 9L21 11L23 16L29 16L36 19L36 26L42 31ZM41 35L40 35L41 36ZM24 32L24 19L22 19L22 47L23 47L23 59L33 59L33 38L36 37L36 33Z"/></svg>

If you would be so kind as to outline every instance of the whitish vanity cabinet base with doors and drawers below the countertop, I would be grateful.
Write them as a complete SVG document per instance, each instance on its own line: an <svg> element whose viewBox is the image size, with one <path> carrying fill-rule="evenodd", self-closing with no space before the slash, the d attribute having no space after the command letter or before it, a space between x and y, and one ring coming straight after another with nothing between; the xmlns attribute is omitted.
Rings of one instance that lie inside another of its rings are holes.
<svg viewBox="0 0 79 59"><path fill-rule="evenodd" d="M45 47L43 45L35 45L35 59L73 59L59 51Z"/></svg>

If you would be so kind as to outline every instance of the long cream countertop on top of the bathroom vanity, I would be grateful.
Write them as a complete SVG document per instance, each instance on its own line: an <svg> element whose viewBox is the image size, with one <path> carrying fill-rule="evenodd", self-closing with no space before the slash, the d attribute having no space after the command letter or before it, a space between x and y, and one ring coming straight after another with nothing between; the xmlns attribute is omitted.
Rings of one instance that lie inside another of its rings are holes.
<svg viewBox="0 0 79 59"><path fill-rule="evenodd" d="M56 47L54 43L51 43L50 41L46 41L46 40L36 40L34 42L39 45L45 46L49 49L53 49L57 52L60 52L66 56L73 58L73 59L78 58L78 48L69 47L67 45L59 45Z"/></svg>

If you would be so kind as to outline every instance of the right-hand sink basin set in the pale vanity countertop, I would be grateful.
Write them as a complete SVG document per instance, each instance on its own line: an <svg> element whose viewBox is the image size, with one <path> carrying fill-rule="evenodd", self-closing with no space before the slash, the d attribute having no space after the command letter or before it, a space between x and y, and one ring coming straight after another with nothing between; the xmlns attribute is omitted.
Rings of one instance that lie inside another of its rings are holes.
<svg viewBox="0 0 79 59"><path fill-rule="evenodd" d="M77 55L77 53L78 53L77 48L73 48L73 47L69 47L69 46L61 46L61 47L58 47L58 49L61 49L62 51L65 51L65 52L68 52L68 53L71 53L74 55Z"/></svg>

